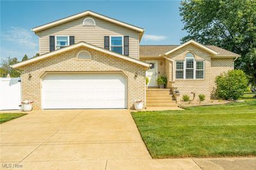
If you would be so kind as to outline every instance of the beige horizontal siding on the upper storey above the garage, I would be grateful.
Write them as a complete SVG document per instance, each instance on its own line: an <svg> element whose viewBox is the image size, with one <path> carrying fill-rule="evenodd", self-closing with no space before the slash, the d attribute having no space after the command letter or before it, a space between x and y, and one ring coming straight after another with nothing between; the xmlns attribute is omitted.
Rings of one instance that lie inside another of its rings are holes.
<svg viewBox="0 0 256 170"><path fill-rule="evenodd" d="M104 36L129 36L129 57L138 59L138 32L99 18L87 17L93 18L96 26L83 26L86 17L82 17L38 32L40 54L49 52L49 36L75 36L75 43L85 41L101 48L104 48Z"/></svg>

